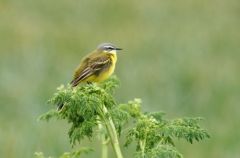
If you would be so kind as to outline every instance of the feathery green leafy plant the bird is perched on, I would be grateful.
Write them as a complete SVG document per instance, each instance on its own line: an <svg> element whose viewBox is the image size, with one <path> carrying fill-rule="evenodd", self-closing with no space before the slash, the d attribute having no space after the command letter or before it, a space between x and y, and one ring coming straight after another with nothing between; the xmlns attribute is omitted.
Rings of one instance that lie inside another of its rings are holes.
<svg viewBox="0 0 240 158"><path fill-rule="evenodd" d="M190 143L209 138L206 130L199 125L201 118L165 119L163 112L141 111L141 100L134 99L126 104L118 104L112 94L119 85L116 77L101 84L85 84L76 88L63 85L49 100L50 104L64 104L40 116L40 120L55 117L65 119L71 124L68 135L75 146L85 137L94 138L95 133L102 137L102 157L107 157L110 143L117 158L123 158L118 138L126 137L125 147L135 142L134 156L139 158L181 158L174 145L175 138L182 138ZM126 128L128 126L128 128ZM122 131L127 130L123 135ZM66 158L79 157L82 151L64 153ZM89 150L87 150L89 151ZM64 157L64 155L62 157ZM36 153L37 157L44 157Z"/></svg>

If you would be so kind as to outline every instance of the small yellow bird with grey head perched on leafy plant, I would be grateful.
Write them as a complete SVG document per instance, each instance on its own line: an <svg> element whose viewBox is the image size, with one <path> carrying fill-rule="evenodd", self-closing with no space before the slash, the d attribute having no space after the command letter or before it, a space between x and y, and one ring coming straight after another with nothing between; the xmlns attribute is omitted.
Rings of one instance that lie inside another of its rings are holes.
<svg viewBox="0 0 240 158"><path fill-rule="evenodd" d="M116 47L112 43L102 43L97 48L86 55L75 69L72 87L81 83L99 83L108 79L114 72L117 62L117 52L122 48ZM63 104L58 105L62 109Z"/></svg>

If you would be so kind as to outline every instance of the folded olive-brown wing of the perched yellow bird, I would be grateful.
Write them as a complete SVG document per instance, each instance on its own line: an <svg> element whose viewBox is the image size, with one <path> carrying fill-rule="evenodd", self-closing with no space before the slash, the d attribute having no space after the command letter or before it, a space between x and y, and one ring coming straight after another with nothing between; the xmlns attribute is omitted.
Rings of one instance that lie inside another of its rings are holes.
<svg viewBox="0 0 240 158"><path fill-rule="evenodd" d="M74 79L71 82L72 86L77 86L81 81L92 75L98 75L110 65L111 58L107 54L86 58L76 70Z"/></svg>

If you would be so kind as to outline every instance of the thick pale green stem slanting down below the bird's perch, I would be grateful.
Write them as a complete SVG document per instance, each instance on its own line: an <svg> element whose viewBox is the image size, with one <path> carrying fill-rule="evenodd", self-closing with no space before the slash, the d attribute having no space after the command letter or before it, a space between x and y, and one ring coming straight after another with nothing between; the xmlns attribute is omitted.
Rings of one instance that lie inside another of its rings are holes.
<svg viewBox="0 0 240 158"><path fill-rule="evenodd" d="M105 106L103 106L103 113L105 116L107 116L107 114L108 114L108 110ZM107 116L107 117L105 117L105 116L103 116L104 117L103 119L105 121L106 129L109 133L111 144L113 146L115 154L116 154L117 158L123 158L122 152L121 152L121 149L119 146L117 131L116 131L115 125L113 123L113 120L110 116Z"/></svg>

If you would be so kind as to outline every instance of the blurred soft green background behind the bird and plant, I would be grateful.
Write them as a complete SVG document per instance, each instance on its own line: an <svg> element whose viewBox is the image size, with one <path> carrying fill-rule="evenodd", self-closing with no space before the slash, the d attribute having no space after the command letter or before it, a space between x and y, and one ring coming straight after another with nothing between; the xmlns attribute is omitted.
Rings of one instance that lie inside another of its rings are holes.
<svg viewBox="0 0 240 158"><path fill-rule="evenodd" d="M0 157L71 150L64 121L38 122L81 57L102 42L119 54L116 97L143 99L168 118L202 116L212 137L177 148L186 158L240 156L239 0L1 0ZM122 140L123 141L123 140ZM99 142L85 157L98 157ZM124 149L131 157L132 149Z"/></svg>

